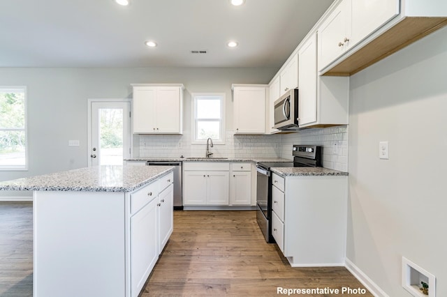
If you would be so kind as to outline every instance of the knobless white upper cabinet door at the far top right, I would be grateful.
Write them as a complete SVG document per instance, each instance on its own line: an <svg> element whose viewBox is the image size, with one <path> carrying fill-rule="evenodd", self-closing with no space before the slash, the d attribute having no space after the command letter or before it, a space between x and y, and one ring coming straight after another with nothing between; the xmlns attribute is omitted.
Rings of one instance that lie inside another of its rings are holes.
<svg viewBox="0 0 447 297"><path fill-rule="evenodd" d="M351 1L351 39L355 44L399 14L399 0Z"/></svg>

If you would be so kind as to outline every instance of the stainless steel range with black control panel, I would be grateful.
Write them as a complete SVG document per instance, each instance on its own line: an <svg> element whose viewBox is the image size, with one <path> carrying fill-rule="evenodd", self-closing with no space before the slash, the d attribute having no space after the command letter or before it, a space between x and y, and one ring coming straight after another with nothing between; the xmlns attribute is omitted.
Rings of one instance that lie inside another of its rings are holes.
<svg viewBox="0 0 447 297"><path fill-rule="evenodd" d="M259 162L256 165L256 220L265 241L274 243L272 236L272 172L273 167L321 167L321 146L295 144L293 162Z"/></svg>

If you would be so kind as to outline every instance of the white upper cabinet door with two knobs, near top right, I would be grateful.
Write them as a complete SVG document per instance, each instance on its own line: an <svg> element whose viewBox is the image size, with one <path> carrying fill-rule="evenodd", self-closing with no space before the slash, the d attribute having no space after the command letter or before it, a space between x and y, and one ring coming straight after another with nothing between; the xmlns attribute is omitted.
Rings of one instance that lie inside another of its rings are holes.
<svg viewBox="0 0 447 297"><path fill-rule="evenodd" d="M318 28L318 70L351 46L351 0L343 0Z"/></svg>

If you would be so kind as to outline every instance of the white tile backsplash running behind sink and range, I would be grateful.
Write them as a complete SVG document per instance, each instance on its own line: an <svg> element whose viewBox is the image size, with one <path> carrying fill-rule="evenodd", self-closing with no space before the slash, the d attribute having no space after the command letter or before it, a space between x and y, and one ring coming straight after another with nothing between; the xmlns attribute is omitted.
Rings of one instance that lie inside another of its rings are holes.
<svg viewBox="0 0 447 297"><path fill-rule="evenodd" d="M135 157L179 158L205 157L205 144L192 144L191 132L183 135L138 135L139 150ZM290 134L234 135L226 132L225 144L214 144L213 157L228 158L286 158L292 159L293 144L323 146L323 167L348 170L348 130L346 125L312 128ZM139 153L139 155L138 155Z"/></svg>

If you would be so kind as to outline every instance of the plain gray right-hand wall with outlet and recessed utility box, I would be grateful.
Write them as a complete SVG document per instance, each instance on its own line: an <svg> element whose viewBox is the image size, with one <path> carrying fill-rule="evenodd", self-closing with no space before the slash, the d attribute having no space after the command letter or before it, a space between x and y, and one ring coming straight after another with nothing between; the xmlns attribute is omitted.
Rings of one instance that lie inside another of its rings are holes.
<svg viewBox="0 0 447 297"><path fill-rule="evenodd" d="M447 28L351 77L347 258L389 296L402 256L447 296L446 79Z"/></svg>

